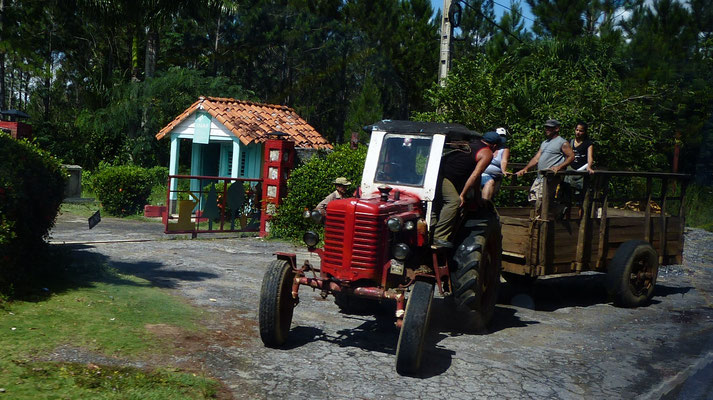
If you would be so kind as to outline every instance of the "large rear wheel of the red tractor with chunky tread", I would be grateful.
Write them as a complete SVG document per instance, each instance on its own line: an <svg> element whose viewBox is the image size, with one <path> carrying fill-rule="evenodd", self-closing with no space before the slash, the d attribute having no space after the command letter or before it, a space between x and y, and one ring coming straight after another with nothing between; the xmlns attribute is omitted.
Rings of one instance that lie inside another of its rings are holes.
<svg viewBox="0 0 713 400"><path fill-rule="evenodd" d="M456 303L470 307L485 326L493 317L500 285L502 236L493 211L485 220L468 221L467 235L455 251L451 274Z"/></svg>

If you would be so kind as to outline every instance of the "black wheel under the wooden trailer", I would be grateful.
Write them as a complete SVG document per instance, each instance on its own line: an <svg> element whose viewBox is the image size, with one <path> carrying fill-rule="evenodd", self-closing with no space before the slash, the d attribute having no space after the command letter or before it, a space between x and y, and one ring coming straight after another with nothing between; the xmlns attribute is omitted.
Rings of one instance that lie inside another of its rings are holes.
<svg viewBox="0 0 713 400"><path fill-rule="evenodd" d="M658 254L649 242L630 240L622 244L607 272L610 298L619 307L647 304L653 296L658 271Z"/></svg>

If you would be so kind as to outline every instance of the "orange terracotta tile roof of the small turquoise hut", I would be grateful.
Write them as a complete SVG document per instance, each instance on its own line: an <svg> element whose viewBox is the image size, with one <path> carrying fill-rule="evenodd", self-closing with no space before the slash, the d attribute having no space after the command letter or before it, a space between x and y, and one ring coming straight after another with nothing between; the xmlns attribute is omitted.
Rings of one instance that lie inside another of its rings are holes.
<svg viewBox="0 0 713 400"><path fill-rule="evenodd" d="M186 111L164 126L156 134L156 139L162 139L201 106L243 144L264 142L268 133L280 131L294 140L296 147L332 148L327 139L290 107L222 97L200 97Z"/></svg>

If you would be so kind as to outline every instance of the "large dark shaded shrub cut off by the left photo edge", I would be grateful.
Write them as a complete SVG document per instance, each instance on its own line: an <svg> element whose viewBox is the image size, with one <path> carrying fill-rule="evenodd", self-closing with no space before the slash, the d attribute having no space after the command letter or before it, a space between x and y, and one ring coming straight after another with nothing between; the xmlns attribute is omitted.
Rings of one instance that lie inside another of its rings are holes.
<svg viewBox="0 0 713 400"><path fill-rule="evenodd" d="M0 291L30 275L28 257L54 226L66 182L56 158L0 133Z"/></svg>

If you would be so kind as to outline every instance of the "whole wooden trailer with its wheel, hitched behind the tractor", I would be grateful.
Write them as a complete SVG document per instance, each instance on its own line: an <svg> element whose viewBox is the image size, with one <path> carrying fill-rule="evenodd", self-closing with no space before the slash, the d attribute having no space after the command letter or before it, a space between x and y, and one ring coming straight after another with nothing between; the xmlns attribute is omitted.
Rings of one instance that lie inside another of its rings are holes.
<svg viewBox="0 0 713 400"><path fill-rule="evenodd" d="M542 276L603 272L616 305L648 303L658 267L682 261L689 176L629 171L539 173L543 179L539 204L498 208L503 277L515 285L527 285ZM565 176L581 177L578 202L568 200L571 188L564 183ZM629 186L623 190L629 193L624 197L613 193L612 189L635 181L642 186L640 192Z"/></svg>

